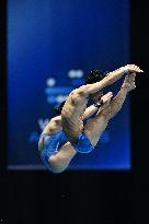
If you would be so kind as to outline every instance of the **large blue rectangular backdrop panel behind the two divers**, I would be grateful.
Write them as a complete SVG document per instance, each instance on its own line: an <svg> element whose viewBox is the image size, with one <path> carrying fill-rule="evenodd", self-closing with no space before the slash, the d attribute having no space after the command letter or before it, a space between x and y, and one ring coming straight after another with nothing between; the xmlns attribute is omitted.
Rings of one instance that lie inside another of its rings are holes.
<svg viewBox="0 0 149 224"><path fill-rule="evenodd" d="M9 168L44 169L39 133L53 106L83 83L91 69L129 62L129 0L9 0ZM117 92L121 81L113 85ZM128 169L129 102L95 150L78 154L71 169Z"/></svg>

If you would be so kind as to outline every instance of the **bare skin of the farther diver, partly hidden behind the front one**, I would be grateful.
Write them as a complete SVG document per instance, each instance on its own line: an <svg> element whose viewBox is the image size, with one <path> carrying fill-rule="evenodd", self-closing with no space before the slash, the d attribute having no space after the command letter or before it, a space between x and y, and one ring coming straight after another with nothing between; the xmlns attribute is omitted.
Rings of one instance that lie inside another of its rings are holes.
<svg viewBox="0 0 149 224"><path fill-rule="evenodd" d="M90 118L94 114L99 114L100 111L102 111L102 109L104 109L110 104L112 96L113 94L111 92L105 94L102 97L104 105L100 108L95 107L94 105L89 106L83 114L83 120ZM50 134L57 133L61 129L62 129L61 116L56 116L49 120L49 122L44 129L44 132L50 135ZM39 140L38 150L41 151L43 146L44 146L44 142L43 140ZM50 164L53 172L61 173L62 170L65 170L68 167L72 157L76 155L76 153L77 153L76 150L72 148L71 143L68 141L65 145L62 145L58 150L58 153L56 155L53 155L49 157L49 164Z"/></svg>

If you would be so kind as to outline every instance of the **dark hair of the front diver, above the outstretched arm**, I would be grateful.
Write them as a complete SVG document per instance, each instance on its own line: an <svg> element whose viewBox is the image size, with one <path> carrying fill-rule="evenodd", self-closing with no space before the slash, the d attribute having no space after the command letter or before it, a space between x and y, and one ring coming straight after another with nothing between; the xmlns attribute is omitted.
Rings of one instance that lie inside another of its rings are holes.
<svg viewBox="0 0 149 224"><path fill-rule="evenodd" d="M104 70L91 70L87 76L85 84L92 84L103 80L108 72Z"/></svg>

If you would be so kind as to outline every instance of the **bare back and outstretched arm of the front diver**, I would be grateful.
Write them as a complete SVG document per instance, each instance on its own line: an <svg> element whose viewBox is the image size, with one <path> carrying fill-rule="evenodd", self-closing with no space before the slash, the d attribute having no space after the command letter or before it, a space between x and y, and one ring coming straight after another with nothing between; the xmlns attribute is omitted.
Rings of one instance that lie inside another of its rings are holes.
<svg viewBox="0 0 149 224"><path fill-rule="evenodd" d="M110 72L108 75L105 76L102 81L94 84L82 85L81 87L76 89L69 94L61 113L61 125L62 130L65 131L70 142L73 143L77 140L82 129L84 129L85 133L89 133L91 131L87 130L85 127L83 127L82 122L82 116L87 108L89 98L91 98L94 94L100 93L100 91L102 91L107 85L111 85L115 81L119 80L124 74L126 74L126 71L141 72L141 70L137 66L128 64L113 72ZM90 137L91 134L89 134L89 139L92 142L92 139L94 138Z"/></svg>

